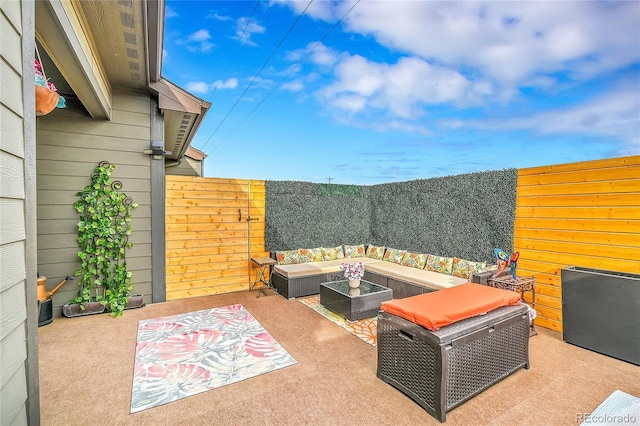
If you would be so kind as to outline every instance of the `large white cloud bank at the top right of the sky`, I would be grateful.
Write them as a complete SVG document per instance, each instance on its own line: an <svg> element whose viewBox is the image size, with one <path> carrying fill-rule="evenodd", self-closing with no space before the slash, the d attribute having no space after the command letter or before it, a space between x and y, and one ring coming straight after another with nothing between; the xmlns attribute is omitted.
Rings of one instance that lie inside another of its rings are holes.
<svg viewBox="0 0 640 426"><path fill-rule="evenodd" d="M504 85L589 64L589 78L638 61L639 2L362 1L349 31ZM578 67L580 68L580 67Z"/></svg>

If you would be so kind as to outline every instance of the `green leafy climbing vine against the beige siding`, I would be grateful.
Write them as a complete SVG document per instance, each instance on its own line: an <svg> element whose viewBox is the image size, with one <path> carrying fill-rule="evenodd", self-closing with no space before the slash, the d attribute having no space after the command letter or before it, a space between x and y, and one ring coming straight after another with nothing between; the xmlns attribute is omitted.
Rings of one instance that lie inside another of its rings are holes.
<svg viewBox="0 0 640 426"><path fill-rule="evenodd" d="M126 249L129 241L131 209L138 207L122 189L122 182L112 181L115 165L102 161L91 175L91 184L76 196L73 207L80 213L78 244L80 269L78 295L71 303L98 301L112 317L122 315L133 285L127 271Z"/></svg>

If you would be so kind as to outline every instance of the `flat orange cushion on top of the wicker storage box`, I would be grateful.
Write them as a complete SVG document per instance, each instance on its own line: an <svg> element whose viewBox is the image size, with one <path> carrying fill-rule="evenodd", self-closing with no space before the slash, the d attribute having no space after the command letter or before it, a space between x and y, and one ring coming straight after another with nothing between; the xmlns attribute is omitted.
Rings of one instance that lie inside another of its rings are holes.
<svg viewBox="0 0 640 426"><path fill-rule="evenodd" d="M380 309L431 331L502 306L520 303L520 294L481 284L466 283L405 299L382 302Z"/></svg>

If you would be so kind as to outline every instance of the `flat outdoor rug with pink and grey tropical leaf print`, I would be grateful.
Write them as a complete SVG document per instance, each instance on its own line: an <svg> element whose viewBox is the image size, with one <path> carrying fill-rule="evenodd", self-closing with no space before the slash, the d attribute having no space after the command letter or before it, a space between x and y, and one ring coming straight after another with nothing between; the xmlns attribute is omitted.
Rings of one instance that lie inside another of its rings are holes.
<svg viewBox="0 0 640 426"><path fill-rule="evenodd" d="M240 304L138 324L131 413L296 364Z"/></svg>

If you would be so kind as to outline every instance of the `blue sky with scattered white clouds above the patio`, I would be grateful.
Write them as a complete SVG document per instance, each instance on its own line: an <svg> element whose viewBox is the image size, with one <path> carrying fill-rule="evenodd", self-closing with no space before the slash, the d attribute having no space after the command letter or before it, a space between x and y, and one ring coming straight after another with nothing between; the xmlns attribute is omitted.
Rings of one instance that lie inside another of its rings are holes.
<svg viewBox="0 0 640 426"><path fill-rule="evenodd" d="M640 154L638 1L171 1L210 177L376 184ZM331 178L331 180L329 180Z"/></svg>

